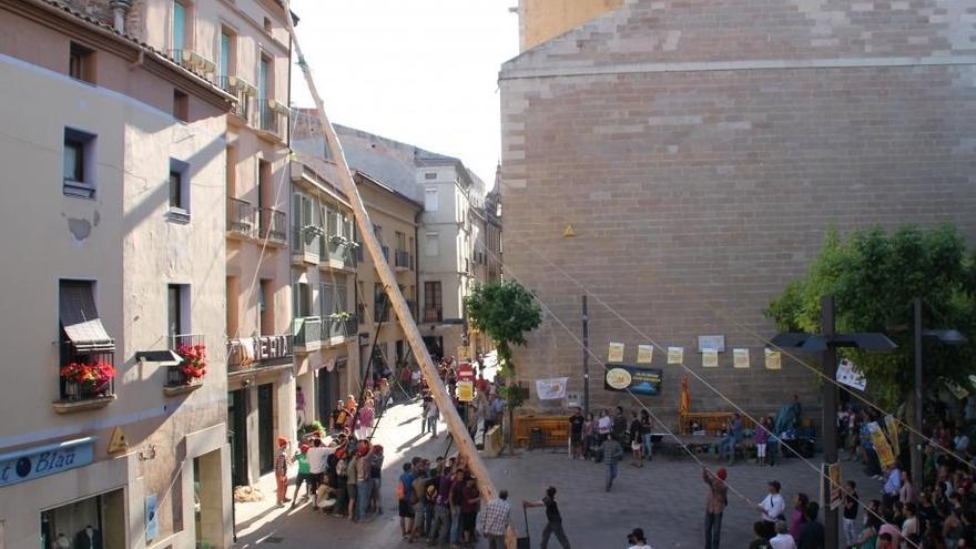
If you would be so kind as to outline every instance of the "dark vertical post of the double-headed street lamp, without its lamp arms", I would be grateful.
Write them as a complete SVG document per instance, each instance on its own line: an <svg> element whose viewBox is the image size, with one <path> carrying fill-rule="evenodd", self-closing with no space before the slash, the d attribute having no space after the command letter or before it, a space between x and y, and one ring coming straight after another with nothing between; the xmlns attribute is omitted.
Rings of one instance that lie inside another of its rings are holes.
<svg viewBox="0 0 976 549"><path fill-rule="evenodd" d="M821 298L821 324L823 326L823 335L828 340L835 335L834 327L834 296L825 295ZM837 350L828 344L826 350L823 352L821 368L828 379L835 377L837 367ZM832 383L823 384L823 440L824 440L824 462L834 465L837 462L837 386ZM837 549L840 540L840 523L837 509L831 509L830 494L831 485L828 478L821 479L824 485L823 494L826 497L824 506L824 542L825 549Z"/></svg>

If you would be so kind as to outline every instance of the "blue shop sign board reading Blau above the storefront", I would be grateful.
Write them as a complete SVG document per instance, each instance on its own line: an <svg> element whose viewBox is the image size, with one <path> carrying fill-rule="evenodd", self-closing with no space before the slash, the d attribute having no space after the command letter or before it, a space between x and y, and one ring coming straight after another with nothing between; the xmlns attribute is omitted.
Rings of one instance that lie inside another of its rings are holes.
<svg viewBox="0 0 976 549"><path fill-rule="evenodd" d="M27 448L0 455L0 486L16 485L82 467L92 460L95 437Z"/></svg>

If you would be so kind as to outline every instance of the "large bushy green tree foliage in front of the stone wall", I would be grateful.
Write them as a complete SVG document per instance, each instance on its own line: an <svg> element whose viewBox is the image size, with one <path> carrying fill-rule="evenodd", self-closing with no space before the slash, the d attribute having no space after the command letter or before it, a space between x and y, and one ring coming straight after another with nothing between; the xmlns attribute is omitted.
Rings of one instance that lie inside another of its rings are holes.
<svg viewBox="0 0 976 549"><path fill-rule="evenodd" d="M883 332L893 353L844 349L865 374L868 390L886 406L904 401L914 384L913 307L923 299L925 328L955 328L969 338L962 347L924 343L925 385L941 377L968 385L976 372L976 254L967 255L953 227L880 227L842 238L832 231L806 275L770 303L766 316L781 332L821 331L821 296L833 294L841 333Z"/></svg>

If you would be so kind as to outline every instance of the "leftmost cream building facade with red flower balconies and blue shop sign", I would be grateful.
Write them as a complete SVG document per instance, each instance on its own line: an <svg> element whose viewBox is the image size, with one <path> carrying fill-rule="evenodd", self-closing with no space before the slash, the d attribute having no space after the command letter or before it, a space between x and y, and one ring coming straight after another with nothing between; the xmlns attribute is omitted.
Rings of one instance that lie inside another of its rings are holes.
<svg viewBox="0 0 976 549"><path fill-rule="evenodd" d="M215 304L235 100L124 22L0 2L0 157L26 183L0 205L2 547L231 545Z"/></svg>

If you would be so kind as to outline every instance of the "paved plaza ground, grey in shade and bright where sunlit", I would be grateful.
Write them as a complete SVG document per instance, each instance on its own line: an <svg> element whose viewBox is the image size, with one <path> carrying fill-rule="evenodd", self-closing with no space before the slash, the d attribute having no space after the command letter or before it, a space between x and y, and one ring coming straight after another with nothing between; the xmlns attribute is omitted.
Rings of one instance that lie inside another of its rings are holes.
<svg viewBox="0 0 976 549"><path fill-rule="evenodd" d="M387 453L384 465L384 515L362 523L311 511L304 502L289 510L273 505L273 484L263 482L268 495L257 504L237 504L237 548L255 546L298 549L309 547L417 547L400 539L394 501L396 479L401 464L413 456L434 458L446 448L443 429L437 439L419 436L419 404L392 408L377 429L377 441ZM705 462L716 468L713 457ZM815 460L814 460L815 459ZM811 460L819 464L817 456ZM701 480L701 466L690 457L658 457L643 468L621 464L620 476L610 494L603 491L604 466L591 461L571 460L566 453L549 450L519 451L516 457L488 459L487 465L498 488L507 488L514 504L516 529L523 535L522 499L540 499L546 487L558 487L557 500L563 523L573 547L601 549L627 547L627 533L642 527L655 549L671 547L701 547L703 545L703 515L706 487ZM880 482L864 477L860 468L845 464L846 478L857 481L862 499L877 498ZM783 495L790 501L797 491L817 499L816 472L800 459L792 458L776 467L735 465L729 468L728 481L749 498L759 500L765 495L769 480L783 485ZM291 490L289 490L291 495ZM722 527L722 547L745 547L752 539L752 523L759 511L730 492L729 509ZM529 509L532 547L539 547L545 512ZM353 543L352 546L347 543ZM479 543L487 547L487 542ZM550 547L559 547L552 539Z"/></svg>

